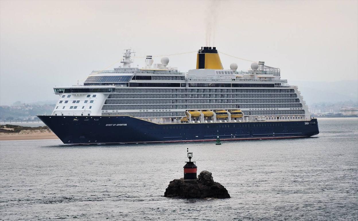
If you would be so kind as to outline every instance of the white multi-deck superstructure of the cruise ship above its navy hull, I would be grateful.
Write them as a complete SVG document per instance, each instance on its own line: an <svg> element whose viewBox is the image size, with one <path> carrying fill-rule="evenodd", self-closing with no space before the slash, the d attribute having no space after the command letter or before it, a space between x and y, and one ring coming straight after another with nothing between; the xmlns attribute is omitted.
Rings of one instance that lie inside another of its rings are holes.
<svg viewBox="0 0 358 221"><path fill-rule="evenodd" d="M221 62L209 66L216 62L210 56L218 57L217 51L204 47L198 52L197 69L183 73L170 68L167 57L153 64L153 57L147 56L144 68L132 68L131 53L130 49L124 53L122 67L93 71L84 85L55 87L60 99L52 115L130 115L171 123L189 116L189 110L241 110L243 121L310 119L297 87L281 79L279 68L264 62L252 63L248 71L237 71L234 63L230 69L222 69ZM202 58L204 53L207 58ZM217 120L213 118L201 115L188 122ZM232 120L239 119L220 119Z"/></svg>

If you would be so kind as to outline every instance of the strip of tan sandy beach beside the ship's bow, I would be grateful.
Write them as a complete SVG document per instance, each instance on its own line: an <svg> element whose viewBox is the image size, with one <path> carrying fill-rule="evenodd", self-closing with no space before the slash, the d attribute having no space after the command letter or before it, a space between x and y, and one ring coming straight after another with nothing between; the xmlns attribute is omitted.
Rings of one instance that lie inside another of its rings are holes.
<svg viewBox="0 0 358 221"><path fill-rule="evenodd" d="M43 140L59 139L49 130L23 130L19 133L0 133L0 140Z"/></svg>

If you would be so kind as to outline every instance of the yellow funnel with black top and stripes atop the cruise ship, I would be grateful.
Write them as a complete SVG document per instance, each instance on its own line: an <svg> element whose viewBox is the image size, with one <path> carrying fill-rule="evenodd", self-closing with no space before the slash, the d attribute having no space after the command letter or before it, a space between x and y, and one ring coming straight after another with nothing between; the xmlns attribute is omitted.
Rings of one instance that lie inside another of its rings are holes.
<svg viewBox="0 0 358 221"><path fill-rule="evenodd" d="M216 47L202 47L198 51L197 69L224 69Z"/></svg>

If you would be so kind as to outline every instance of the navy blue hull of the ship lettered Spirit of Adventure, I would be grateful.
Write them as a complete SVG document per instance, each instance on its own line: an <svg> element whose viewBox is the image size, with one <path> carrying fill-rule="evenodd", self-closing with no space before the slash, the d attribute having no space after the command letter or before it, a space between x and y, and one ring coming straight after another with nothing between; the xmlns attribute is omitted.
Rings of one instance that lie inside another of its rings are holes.
<svg viewBox="0 0 358 221"><path fill-rule="evenodd" d="M155 124L130 116L38 116L64 144L147 143L308 137L309 121Z"/></svg>

